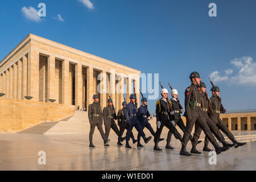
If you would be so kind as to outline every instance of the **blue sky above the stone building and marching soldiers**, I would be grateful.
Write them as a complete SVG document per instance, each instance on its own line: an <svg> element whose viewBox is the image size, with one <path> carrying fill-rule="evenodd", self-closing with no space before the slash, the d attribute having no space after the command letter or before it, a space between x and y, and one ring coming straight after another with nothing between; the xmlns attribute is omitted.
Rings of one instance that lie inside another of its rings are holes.
<svg viewBox="0 0 256 182"><path fill-rule="evenodd" d="M25 11L39 10L40 2L46 17L27 19ZM212 2L217 17L208 15ZM164 86L171 82L179 90L181 103L188 76L197 71L208 92L208 77L214 78L227 110L255 109L255 7L253 0L1 1L0 60L32 33L142 73L159 73ZM148 102L151 113L155 102Z"/></svg>

